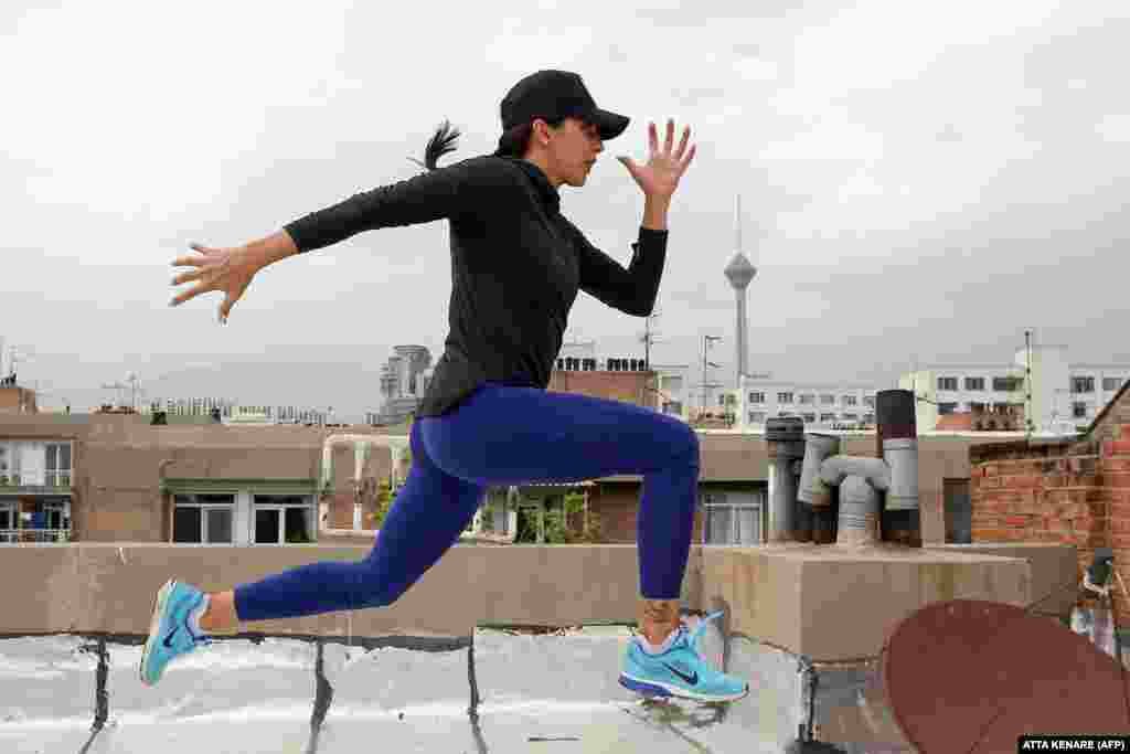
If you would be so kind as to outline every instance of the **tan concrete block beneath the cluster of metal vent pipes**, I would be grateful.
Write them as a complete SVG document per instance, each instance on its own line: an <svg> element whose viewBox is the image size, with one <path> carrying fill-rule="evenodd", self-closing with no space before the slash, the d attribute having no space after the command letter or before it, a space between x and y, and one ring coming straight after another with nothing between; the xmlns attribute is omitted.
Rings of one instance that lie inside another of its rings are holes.
<svg viewBox="0 0 1130 754"><path fill-rule="evenodd" d="M938 600L1027 605L1031 565L979 553L801 543L703 548L706 609L730 631L816 662L877 657L903 618Z"/></svg>

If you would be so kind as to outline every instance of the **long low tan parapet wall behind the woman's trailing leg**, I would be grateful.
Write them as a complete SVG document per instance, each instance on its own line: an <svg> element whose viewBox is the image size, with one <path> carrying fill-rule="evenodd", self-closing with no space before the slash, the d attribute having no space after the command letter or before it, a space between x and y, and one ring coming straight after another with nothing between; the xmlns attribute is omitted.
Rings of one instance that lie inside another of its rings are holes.
<svg viewBox="0 0 1130 754"><path fill-rule="evenodd" d="M229 589L319 561L359 561L370 545L227 547L166 544L0 547L9 580L0 634L144 635L166 579ZM692 558L694 562L694 558ZM687 606L698 579L688 569ZM457 545L388 608L244 624L272 635L469 636L477 625L634 623L634 545L481 547Z"/></svg>

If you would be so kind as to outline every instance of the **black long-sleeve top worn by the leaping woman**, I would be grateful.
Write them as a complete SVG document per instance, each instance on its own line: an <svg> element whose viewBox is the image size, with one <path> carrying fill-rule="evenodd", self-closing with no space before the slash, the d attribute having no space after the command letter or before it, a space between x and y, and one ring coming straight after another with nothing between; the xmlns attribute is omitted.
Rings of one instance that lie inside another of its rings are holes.
<svg viewBox="0 0 1130 754"><path fill-rule="evenodd" d="M484 382L545 389L579 289L627 314L651 313L667 231L641 226L624 269L559 207L533 163L481 156L354 194L285 229L306 252L363 231L449 220L451 329L417 410L442 416Z"/></svg>

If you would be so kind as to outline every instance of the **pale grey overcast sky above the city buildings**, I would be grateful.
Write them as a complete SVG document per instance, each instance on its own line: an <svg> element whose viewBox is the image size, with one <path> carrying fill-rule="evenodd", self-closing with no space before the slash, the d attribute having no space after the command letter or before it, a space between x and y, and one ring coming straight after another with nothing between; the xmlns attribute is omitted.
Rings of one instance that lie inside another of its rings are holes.
<svg viewBox="0 0 1130 754"><path fill-rule="evenodd" d="M894 387L915 362L1010 362L1026 328L1130 362L1125 2L391 7L0 5L0 337L43 404L81 410L132 371L146 399L377 408L392 346L442 353L446 223L285 260L226 327L218 294L167 306L169 262L411 176L444 119L441 164L492 151L499 101L542 68L632 119L562 189L621 263L643 196L612 157L645 159L649 121L693 129L653 363L722 336L732 382L739 192L754 371ZM642 355L643 330L582 294L566 337Z"/></svg>

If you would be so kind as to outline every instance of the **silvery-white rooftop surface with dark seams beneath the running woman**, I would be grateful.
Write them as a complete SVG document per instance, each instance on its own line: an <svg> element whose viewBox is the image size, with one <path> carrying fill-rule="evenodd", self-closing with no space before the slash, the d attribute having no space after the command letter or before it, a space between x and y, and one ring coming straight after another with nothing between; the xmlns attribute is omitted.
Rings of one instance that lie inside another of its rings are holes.
<svg viewBox="0 0 1130 754"><path fill-rule="evenodd" d="M616 683L628 636L617 626L479 630L473 652L323 643L322 674L333 691L320 725L312 725L321 707L314 642L220 641L174 662L154 688L137 676L140 645L107 642L108 714L98 731L98 645L69 635L6 639L0 751L757 753L781 752L794 737L786 729L791 692L753 676L759 692L730 705L641 701ZM721 636L707 633L703 645L719 653ZM731 650L728 665L751 673L742 655ZM766 725L776 743L765 739Z"/></svg>

